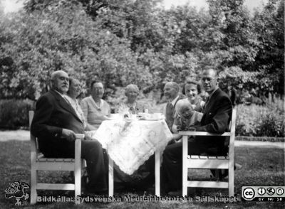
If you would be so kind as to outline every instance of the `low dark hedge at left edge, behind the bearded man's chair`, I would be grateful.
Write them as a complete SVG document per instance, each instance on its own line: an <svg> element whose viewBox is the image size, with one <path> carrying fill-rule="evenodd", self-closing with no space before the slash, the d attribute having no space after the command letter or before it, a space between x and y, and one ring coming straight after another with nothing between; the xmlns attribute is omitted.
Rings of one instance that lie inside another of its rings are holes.
<svg viewBox="0 0 285 209"><path fill-rule="evenodd" d="M33 109L33 105L31 100L0 100L0 127L28 127L28 110Z"/></svg>

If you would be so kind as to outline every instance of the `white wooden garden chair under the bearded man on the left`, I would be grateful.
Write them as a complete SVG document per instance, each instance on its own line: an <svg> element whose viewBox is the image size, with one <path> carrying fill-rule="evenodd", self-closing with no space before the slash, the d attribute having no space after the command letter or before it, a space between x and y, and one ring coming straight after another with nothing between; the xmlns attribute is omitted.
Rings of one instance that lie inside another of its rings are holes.
<svg viewBox="0 0 285 209"><path fill-rule="evenodd" d="M29 124L33 119L33 111L28 112ZM31 133L31 132L30 132ZM36 203L37 190L71 190L81 195L81 167L86 166L86 161L81 159L81 139L83 134L76 135L75 159L45 158L38 151L37 139L31 136L31 204ZM38 171L73 171L75 183L38 183ZM76 203L80 203L76 200Z"/></svg>

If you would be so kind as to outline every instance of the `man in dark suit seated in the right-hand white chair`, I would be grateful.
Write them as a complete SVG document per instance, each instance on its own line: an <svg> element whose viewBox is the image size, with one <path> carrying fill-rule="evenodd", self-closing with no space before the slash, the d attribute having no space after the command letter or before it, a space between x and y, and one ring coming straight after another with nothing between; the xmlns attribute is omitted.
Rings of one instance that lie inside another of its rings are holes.
<svg viewBox="0 0 285 209"><path fill-rule="evenodd" d="M232 104L228 95L218 87L217 71L213 69L202 72L202 85L209 94L205 104L201 125L195 127L197 132L222 134L229 129L232 116ZM197 136L188 142L188 152L192 155L227 154L227 145L223 136ZM182 188L182 143L167 146L162 161L162 191L177 191Z"/></svg>

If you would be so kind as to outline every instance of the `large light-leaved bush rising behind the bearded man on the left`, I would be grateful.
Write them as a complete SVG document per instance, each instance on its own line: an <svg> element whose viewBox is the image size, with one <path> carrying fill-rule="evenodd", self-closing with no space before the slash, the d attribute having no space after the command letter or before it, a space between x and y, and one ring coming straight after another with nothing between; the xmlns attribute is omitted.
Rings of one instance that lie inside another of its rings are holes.
<svg viewBox="0 0 285 209"><path fill-rule="evenodd" d="M129 41L100 28L81 4L66 1L23 16L1 24L2 37L12 37L1 45L5 52L1 76L6 78L1 85L10 88L4 97L37 98L48 85L49 74L60 69L87 84L95 77L113 77L116 85L151 81Z"/></svg>

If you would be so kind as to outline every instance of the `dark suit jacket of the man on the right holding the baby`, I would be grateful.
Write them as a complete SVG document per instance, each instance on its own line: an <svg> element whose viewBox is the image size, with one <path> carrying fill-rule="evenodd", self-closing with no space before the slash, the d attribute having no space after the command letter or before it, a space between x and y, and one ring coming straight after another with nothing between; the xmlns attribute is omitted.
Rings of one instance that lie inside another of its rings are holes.
<svg viewBox="0 0 285 209"><path fill-rule="evenodd" d="M201 127L197 132L212 132L223 134L229 131L229 122L232 117L232 103L229 96L219 88L213 93L204 107ZM225 137L199 136L197 142L207 148L207 154L226 154Z"/></svg>

